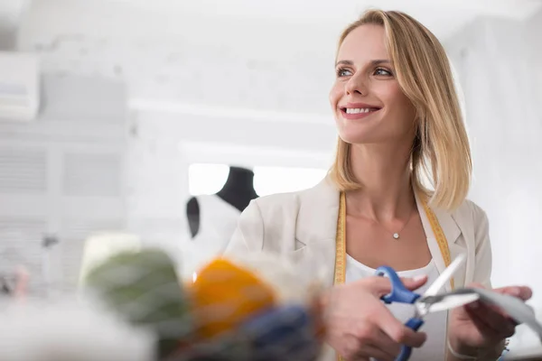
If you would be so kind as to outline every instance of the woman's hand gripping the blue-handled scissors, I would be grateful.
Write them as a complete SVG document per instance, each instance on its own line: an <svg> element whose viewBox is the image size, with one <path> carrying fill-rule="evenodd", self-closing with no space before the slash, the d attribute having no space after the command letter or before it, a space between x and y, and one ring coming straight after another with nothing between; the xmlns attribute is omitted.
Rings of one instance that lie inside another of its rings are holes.
<svg viewBox="0 0 542 361"><path fill-rule="evenodd" d="M402 281L412 291L427 278ZM425 333L407 328L380 300L390 291L388 278L374 276L332 287L324 296L326 342L344 359L393 361L402 345L424 344Z"/></svg>

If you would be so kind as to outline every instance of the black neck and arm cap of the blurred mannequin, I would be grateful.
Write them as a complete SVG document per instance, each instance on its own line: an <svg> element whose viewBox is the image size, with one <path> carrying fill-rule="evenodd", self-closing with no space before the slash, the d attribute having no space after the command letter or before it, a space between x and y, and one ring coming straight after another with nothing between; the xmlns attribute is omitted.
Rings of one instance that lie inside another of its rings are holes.
<svg viewBox="0 0 542 361"><path fill-rule="evenodd" d="M247 208L250 200L257 198L256 190L254 190L254 172L246 168L229 167L226 183L214 196L222 199L233 208L237 208L240 215L240 212ZM200 211L198 199L192 197L186 205L186 216L192 238L197 236L200 231ZM228 239L229 236L227 235Z"/></svg>

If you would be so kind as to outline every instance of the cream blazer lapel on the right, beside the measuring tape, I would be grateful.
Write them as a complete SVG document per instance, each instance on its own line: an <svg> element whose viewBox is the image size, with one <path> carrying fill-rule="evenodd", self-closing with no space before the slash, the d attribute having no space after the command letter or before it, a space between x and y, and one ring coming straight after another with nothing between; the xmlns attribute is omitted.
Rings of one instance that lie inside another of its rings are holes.
<svg viewBox="0 0 542 361"><path fill-rule="evenodd" d="M422 202L423 202L422 199L420 199L418 197L418 194L416 193L416 205L418 208L418 213L422 220L425 236L427 237L427 245L429 246L429 251L431 252L433 260L435 261L435 265L438 272L443 273L444 269L446 268L446 264L444 263L444 256L441 251L441 248L438 245L438 242L435 236L435 231L433 230L433 227L431 227L431 223L429 222L429 218L427 217L427 214L425 212L425 208ZM455 243L461 236L461 229L457 226L457 223L453 219L451 213L439 208L431 208L431 209L433 210L433 213L435 213L435 216L438 219L438 223L440 224L440 227L443 230L444 236L446 237L447 246L450 251L450 255L453 259L454 255L457 254ZM446 283L445 289L448 292L452 291L450 282Z"/></svg>

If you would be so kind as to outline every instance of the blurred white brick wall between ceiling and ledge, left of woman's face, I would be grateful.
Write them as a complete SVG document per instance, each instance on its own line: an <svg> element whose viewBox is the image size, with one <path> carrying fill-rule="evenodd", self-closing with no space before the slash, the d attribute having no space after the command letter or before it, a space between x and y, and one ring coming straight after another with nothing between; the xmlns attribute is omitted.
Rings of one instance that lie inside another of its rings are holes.
<svg viewBox="0 0 542 361"><path fill-rule="evenodd" d="M126 80L132 103L154 110L190 104L327 114L320 89L333 79L342 25L159 10L34 2L18 48L39 52L48 72Z"/></svg>

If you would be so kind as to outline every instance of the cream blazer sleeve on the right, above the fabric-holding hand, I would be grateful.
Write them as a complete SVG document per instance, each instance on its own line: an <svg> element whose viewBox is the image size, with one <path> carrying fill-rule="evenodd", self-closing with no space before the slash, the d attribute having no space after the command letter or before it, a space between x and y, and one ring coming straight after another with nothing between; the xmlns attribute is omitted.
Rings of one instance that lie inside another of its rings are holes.
<svg viewBox="0 0 542 361"><path fill-rule="evenodd" d="M491 242L490 222L485 211L473 204L475 266L473 282L481 283L484 287L491 288Z"/></svg>

